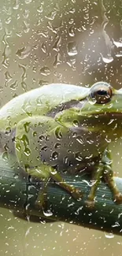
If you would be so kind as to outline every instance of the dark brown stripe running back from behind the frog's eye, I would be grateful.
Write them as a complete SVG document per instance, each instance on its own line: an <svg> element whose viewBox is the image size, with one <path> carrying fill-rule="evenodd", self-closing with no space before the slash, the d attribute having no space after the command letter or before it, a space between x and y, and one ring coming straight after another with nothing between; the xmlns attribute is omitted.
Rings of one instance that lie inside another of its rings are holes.
<svg viewBox="0 0 122 256"><path fill-rule="evenodd" d="M47 117L55 117L57 113L65 110L65 109L72 109L73 107L76 107L77 109L82 109L86 100L83 101L77 101L77 100L71 100L70 102L61 103L59 106L55 106L54 109L51 109L46 116Z"/></svg>

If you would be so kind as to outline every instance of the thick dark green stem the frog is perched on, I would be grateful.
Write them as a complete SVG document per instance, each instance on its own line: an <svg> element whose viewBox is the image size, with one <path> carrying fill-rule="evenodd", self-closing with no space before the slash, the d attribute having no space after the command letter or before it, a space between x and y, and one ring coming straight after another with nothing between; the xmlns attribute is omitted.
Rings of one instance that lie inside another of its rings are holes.
<svg viewBox="0 0 122 256"><path fill-rule="evenodd" d="M13 161L14 162L14 161ZM67 221L89 228L114 232L122 232L122 205L113 202L111 191L106 184L101 183L96 193L94 210L88 210L84 201L90 191L90 176L83 173L80 176L63 174L69 184L75 184L83 191L83 200L76 201L54 182L47 186L47 211L35 208L39 182L28 182L28 176L21 169L10 167L9 160L0 156L0 206L14 211L54 221ZM75 180L74 180L75 179ZM115 178L122 192L122 179Z"/></svg>

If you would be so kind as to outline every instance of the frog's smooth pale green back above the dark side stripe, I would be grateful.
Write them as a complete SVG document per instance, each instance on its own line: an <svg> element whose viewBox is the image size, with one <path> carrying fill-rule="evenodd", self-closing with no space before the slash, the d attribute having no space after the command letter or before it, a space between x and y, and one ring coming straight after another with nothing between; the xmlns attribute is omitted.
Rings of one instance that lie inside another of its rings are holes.
<svg viewBox="0 0 122 256"><path fill-rule="evenodd" d="M52 83L28 91L23 95L13 98L0 109L0 128L9 121L11 126L15 122L31 115L46 115L51 109L63 102L72 99L84 98L88 89L75 85Z"/></svg>

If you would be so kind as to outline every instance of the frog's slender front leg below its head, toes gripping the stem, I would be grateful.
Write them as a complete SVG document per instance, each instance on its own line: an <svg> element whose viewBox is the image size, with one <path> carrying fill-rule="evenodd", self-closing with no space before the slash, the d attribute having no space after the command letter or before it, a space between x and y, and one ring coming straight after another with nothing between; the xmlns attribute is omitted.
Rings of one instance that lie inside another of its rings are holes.
<svg viewBox="0 0 122 256"><path fill-rule="evenodd" d="M98 165L94 166L93 176L91 180L93 186L91 187L90 194L88 195L86 201L86 205L90 208L94 207L95 191L102 177L104 178L105 182L108 184L110 190L113 193L113 200L116 203L121 203L122 194L116 187L116 183L113 179L112 161L108 149L105 149L104 153L102 154L102 161Z"/></svg>

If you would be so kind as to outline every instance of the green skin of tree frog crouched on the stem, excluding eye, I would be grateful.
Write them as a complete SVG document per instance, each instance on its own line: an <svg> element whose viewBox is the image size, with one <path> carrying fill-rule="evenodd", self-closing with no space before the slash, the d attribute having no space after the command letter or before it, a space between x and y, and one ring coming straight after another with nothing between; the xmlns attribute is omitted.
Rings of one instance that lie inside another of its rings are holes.
<svg viewBox="0 0 122 256"><path fill-rule="evenodd" d="M122 202L108 150L109 143L121 135L122 91L111 87L109 102L97 102L91 95L94 87L100 91L102 86L110 87L103 82L91 88L50 84L13 98L0 109L1 150L10 153L14 148L20 167L28 174L45 184L53 178L74 198L82 193L62 180L61 171L91 170L96 182L87 199L90 206L101 176L116 202ZM103 96L98 95L100 100ZM43 206L43 195L40 190L38 206Z"/></svg>

